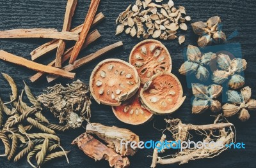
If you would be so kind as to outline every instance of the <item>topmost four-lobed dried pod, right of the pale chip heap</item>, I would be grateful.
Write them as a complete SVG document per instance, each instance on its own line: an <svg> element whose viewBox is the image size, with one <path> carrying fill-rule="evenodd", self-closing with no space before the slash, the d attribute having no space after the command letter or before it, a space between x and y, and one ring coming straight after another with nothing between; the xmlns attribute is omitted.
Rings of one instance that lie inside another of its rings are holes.
<svg viewBox="0 0 256 168"><path fill-rule="evenodd" d="M222 43L226 41L226 35L221 31L220 17L215 16L207 20L207 22L195 22L192 24L193 31L198 34L198 46L204 47L213 43Z"/></svg>

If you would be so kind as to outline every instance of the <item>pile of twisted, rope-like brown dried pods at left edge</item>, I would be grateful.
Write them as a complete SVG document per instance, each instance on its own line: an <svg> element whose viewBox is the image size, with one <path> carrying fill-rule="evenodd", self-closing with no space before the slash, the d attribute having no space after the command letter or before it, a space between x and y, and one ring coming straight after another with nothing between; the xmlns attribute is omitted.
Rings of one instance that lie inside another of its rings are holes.
<svg viewBox="0 0 256 168"><path fill-rule="evenodd" d="M27 157L32 167L36 167L31 162L32 158L35 158L37 167L42 167L54 158L67 157L69 151L63 150L60 138L55 133L55 130L64 131L67 127L49 123L26 83L24 90L32 107L22 101L23 90L18 97L13 79L8 74L3 76L12 88L12 96L10 102L4 103L0 99L0 139L5 149L0 157L7 157L14 162ZM4 113L8 116L7 120L3 118Z"/></svg>

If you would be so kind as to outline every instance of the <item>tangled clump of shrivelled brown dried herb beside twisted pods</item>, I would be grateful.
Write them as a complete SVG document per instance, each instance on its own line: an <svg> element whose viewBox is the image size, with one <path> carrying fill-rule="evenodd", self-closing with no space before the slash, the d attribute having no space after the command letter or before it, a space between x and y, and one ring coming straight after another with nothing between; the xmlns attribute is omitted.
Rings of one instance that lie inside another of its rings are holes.
<svg viewBox="0 0 256 168"><path fill-rule="evenodd" d="M80 80L67 87L61 84L49 87L45 94L39 95L37 101L49 109L60 123L67 127L81 127L84 120L91 116L89 88Z"/></svg>

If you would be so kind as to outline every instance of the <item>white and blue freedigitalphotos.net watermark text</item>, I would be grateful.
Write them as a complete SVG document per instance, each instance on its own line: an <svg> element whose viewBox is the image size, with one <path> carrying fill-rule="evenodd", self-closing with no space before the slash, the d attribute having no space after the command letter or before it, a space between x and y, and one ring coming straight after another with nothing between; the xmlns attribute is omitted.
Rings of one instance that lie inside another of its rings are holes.
<svg viewBox="0 0 256 168"><path fill-rule="evenodd" d="M230 144L223 144L223 141L210 141L210 142L202 142L202 141L126 141L125 139L122 139L120 142L121 148L127 149L128 146L130 146L132 149L157 149L157 151L162 151L164 149L179 149L180 151L183 151L185 149L190 148L197 148L197 149L222 149L222 148L233 148L233 149L245 149L244 143L230 143Z"/></svg>

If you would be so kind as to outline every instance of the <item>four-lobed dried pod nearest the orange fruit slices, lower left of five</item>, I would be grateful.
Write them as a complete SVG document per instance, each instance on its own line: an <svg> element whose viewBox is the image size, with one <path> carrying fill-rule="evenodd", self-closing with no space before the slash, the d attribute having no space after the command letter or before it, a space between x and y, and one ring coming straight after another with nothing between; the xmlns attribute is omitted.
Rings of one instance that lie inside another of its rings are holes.
<svg viewBox="0 0 256 168"><path fill-rule="evenodd" d="M220 85L209 85L205 86L199 83L192 83L193 95L193 114L204 113L207 109L210 109L214 113L221 111L221 103L217 100L221 93L222 87Z"/></svg>

